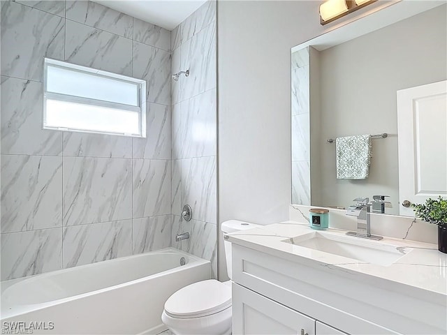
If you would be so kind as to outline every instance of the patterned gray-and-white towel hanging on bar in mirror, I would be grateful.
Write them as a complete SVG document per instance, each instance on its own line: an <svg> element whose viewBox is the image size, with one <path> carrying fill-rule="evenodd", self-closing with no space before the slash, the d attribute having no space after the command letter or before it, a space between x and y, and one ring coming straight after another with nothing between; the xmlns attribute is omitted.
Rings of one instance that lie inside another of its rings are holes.
<svg viewBox="0 0 447 335"><path fill-rule="evenodd" d="M337 137L337 179L365 179L371 161L371 135Z"/></svg>

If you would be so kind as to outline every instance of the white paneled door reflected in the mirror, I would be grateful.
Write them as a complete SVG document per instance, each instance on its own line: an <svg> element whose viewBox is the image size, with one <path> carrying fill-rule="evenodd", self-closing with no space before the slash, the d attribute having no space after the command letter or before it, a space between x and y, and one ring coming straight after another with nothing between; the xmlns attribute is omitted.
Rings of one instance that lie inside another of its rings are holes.
<svg viewBox="0 0 447 335"><path fill-rule="evenodd" d="M397 91L400 215L447 195L447 81ZM404 201L407 202L404 202Z"/></svg>

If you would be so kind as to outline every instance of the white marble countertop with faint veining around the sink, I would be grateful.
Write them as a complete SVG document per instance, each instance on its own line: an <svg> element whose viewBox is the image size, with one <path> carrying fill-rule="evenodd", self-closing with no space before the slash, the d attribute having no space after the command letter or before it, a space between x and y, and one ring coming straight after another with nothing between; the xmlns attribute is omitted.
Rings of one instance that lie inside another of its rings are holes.
<svg viewBox="0 0 447 335"><path fill-rule="evenodd" d="M386 286L390 290L401 290L423 299L436 300L441 305L447 304L447 254L439 252L436 244L390 237L383 237L381 241L369 241L347 237L346 230L324 230L335 239L343 236L344 239L366 240L379 249L402 253L402 257L393 264L376 265L293 244L293 239L298 241L300 237L312 232L318 230L312 230L305 223L286 221L226 234L228 237L225 239L286 260L309 266L323 266L328 271L338 271L342 276L354 274L361 276L361 280Z"/></svg>

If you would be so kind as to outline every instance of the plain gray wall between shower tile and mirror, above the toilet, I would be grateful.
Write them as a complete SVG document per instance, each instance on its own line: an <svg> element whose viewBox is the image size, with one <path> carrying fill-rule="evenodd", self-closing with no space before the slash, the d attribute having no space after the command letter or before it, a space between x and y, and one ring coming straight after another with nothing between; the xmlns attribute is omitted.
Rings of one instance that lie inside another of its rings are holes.
<svg viewBox="0 0 447 335"><path fill-rule="evenodd" d="M219 1L219 223L288 219L291 47L358 20L377 1L321 26L321 1ZM226 278L219 234L219 278Z"/></svg>

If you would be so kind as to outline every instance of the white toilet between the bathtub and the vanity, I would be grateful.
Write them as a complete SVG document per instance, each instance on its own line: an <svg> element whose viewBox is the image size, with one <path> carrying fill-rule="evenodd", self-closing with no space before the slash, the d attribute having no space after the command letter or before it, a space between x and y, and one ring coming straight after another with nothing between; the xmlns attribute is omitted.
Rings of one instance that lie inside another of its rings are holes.
<svg viewBox="0 0 447 335"><path fill-rule="evenodd" d="M224 233L257 228L260 225L230 220L221 225ZM231 244L223 242L226 267L231 279ZM168 300L161 321L175 335L231 334L231 281L199 281L181 288Z"/></svg>

